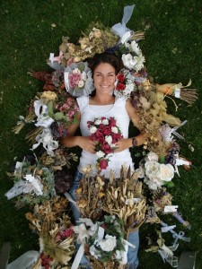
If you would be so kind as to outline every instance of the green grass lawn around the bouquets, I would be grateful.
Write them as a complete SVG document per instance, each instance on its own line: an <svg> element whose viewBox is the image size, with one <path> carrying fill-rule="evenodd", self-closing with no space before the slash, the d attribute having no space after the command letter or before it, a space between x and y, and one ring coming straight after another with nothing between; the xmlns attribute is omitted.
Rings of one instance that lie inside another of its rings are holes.
<svg viewBox="0 0 202 269"><path fill-rule="evenodd" d="M170 106L171 114L178 115L188 123L180 128L187 143L181 143L181 154L193 162L186 171L180 168L180 178L175 177L170 191L173 204L178 204L184 219L192 224L185 230L175 220L178 230L184 230L191 237L190 243L180 242L176 255L183 250L199 251L196 268L202 268L202 4L195 0L2 0L0 4L0 246L11 241L10 261L30 249L38 250L37 236L31 233L24 213L29 208L16 211L13 201L7 201L4 193L13 186L6 171L13 165L15 157L21 159L29 151L25 142L26 130L16 135L11 132L19 115L25 115L26 106L42 84L29 77L29 69L49 70L46 59L50 52L58 53L62 36L69 36L75 42L81 30L89 22L101 21L112 26L121 21L123 8L136 4L127 27L145 30L145 40L139 42L146 58L149 74L154 82L182 82L192 79L192 87L198 89L199 99L192 108L180 103L179 111ZM52 28L51 23L56 27ZM195 148L190 152L189 143ZM145 253L148 232L154 227L148 224L141 230L140 268L171 268L163 264L161 257ZM171 242L172 239L170 238Z"/></svg>

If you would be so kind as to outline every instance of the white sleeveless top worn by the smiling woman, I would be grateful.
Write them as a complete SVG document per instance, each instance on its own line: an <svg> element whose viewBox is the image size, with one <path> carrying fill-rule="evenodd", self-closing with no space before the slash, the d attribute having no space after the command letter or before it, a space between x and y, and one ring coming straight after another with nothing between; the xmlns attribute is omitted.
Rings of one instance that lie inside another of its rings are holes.
<svg viewBox="0 0 202 269"><path fill-rule="evenodd" d="M126 100L124 98L116 97L113 105L95 106L89 105L89 97L81 96L77 98L77 103L81 112L80 129L83 136L91 135L87 121L93 121L95 117L115 117L123 137L128 138L130 118L127 114ZM82 172L82 168L91 164L93 167L92 174L95 175L97 172L95 167L97 159L96 154L83 150L78 166L79 171ZM104 175L105 178L110 178L110 169L112 169L116 178L119 178L119 170L123 164L126 164L127 167L130 166L132 171L134 170L134 164L128 149L122 152L115 152L113 156L110 157L107 169L101 170L101 175Z"/></svg>

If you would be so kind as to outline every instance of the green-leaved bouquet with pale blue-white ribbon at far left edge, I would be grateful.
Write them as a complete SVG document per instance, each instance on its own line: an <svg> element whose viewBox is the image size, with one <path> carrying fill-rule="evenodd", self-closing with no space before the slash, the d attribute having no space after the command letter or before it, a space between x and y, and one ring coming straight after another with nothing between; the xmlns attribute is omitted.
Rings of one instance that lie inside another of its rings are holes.
<svg viewBox="0 0 202 269"><path fill-rule="evenodd" d="M54 174L39 161L26 158L17 161L13 173L14 186L5 194L7 199L18 196L16 207L40 204L56 195Z"/></svg>

